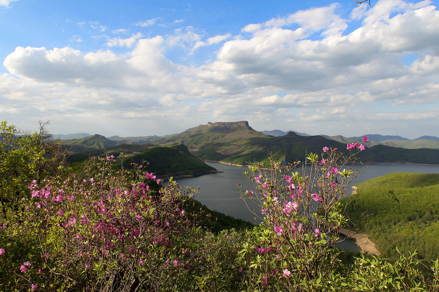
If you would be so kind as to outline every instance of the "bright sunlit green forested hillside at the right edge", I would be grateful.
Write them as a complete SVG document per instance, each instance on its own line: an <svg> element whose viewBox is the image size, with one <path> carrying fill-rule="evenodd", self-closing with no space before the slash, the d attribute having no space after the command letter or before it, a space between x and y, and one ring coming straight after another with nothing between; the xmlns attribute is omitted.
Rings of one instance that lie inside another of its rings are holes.
<svg viewBox="0 0 439 292"><path fill-rule="evenodd" d="M360 195L348 205L348 214L384 256L399 258L398 248L417 249L424 264L438 258L439 174L396 172L357 187ZM369 216L361 218L363 213Z"/></svg>

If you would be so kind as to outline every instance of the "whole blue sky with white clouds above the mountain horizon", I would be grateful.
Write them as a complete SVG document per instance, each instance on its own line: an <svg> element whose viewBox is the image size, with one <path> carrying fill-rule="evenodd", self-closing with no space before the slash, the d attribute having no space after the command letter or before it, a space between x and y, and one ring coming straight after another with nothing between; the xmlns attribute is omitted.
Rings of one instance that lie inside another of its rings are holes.
<svg viewBox="0 0 439 292"><path fill-rule="evenodd" d="M439 136L438 1L0 0L0 120Z"/></svg>

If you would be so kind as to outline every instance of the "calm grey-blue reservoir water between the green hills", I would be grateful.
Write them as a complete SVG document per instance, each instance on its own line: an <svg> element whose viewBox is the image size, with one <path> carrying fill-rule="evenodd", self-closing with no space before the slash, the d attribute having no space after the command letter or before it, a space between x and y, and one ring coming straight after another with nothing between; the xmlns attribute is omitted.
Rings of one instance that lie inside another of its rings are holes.
<svg viewBox="0 0 439 292"><path fill-rule="evenodd" d="M242 185L243 191L252 189L252 185L243 174L244 171L248 171L248 167L215 162L208 162L207 164L223 172L205 174L195 178L178 178L176 181L182 187L191 186L197 188L199 186L200 192L196 199L202 204L205 204L209 209L255 223L255 215L248 210L248 207L252 210L258 210L256 212L257 214L260 214L260 208L257 208L251 201L247 207L245 201L240 198L237 189L238 184ZM365 165L367 165L368 168L363 170L360 175L354 179L351 186L392 172L439 173L439 166L436 165L395 163ZM259 223L259 221L256 221L256 223ZM346 249L360 250L353 239L342 242L340 246Z"/></svg>

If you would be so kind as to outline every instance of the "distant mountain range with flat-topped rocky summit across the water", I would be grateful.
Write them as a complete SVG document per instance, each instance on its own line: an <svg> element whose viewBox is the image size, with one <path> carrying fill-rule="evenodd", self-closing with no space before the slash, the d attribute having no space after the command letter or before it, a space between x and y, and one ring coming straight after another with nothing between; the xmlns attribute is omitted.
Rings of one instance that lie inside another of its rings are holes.
<svg viewBox="0 0 439 292"><path fill-rule="evenodd" d="M270 131L269 131L270 132ZM271 131L273 133L273 131ZM277 130L274 133L280 133ZM305 134L305 133L301 133ZM307 135L307 134L306 134ZM368 135L380 139L381 135ZM389 138L388 136L381 136ZM395 136L392 136L395 138ZM339 136L305 136L291 131L287 135L266 135L255 131L247 121L217 122L199 125L184 132L166 136L119 137L108 139L102 135L90 135L82 139L61 140L75 154L102 155L96 151L110 150L139 154L152 146L172 146L183 144L194 157L202 160L223 161L232 164L247 164L258 161L267 162L271 155L275 160L285 163L303 160L306 152L321 153L324 146L338 147L346 150L346 143L358 142L360 137L346 138ZM396 137L398 138L398 137ZM362 136L361 136L362 139ZM371 138L370 138L371 139ZM404 139L400 137L399 139ZM439 164L439 149L404 149L413 147L414 143L423 145L426 141L431 148L439 148L439 141L433 139L399 140L388 139L381 142L371 141L370 148L360 153L363 162L405 162ZM395 146L383 145L392 143ZM366 145L367 145L366 144ZM410 144L410 145L409 145ZM424 146L425 147L425 146ZM95 154L93 154L95 153Z"/></svg>

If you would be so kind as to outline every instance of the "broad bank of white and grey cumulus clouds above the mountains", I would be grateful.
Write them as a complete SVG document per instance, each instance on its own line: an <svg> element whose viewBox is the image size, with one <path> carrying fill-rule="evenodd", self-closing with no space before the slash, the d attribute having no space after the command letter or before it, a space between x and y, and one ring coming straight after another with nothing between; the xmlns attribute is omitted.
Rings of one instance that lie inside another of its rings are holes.
<svg viewBox="0 0 439 292"><path fill-rule="evenodd" d="M162 123L171 133L212 118L247 119L260 130L269 122L310 134L322 128L330 135L361 134L354 126L339 132L349 124L383 134L403 125L432 135L439 103L437 8L430 1L382 0L353 10L349 19L339 9L330 4L248 24L240 37L224 32L205 38L206 32L186 26L164 36L108 38L109 48L130 48L123 55L17 47L4 59L9 74L0 75L0 101L10 110L2 107L0 113L36 120L45 113L67 114L83 121L95 114L133 126L133 135L139 121ZM347 30L352 19L362 24ZM191 53L218 43L216 56L202 65L168 56L176 46ZM419 58L407 66L403 59L410 55Z"/></svg>

